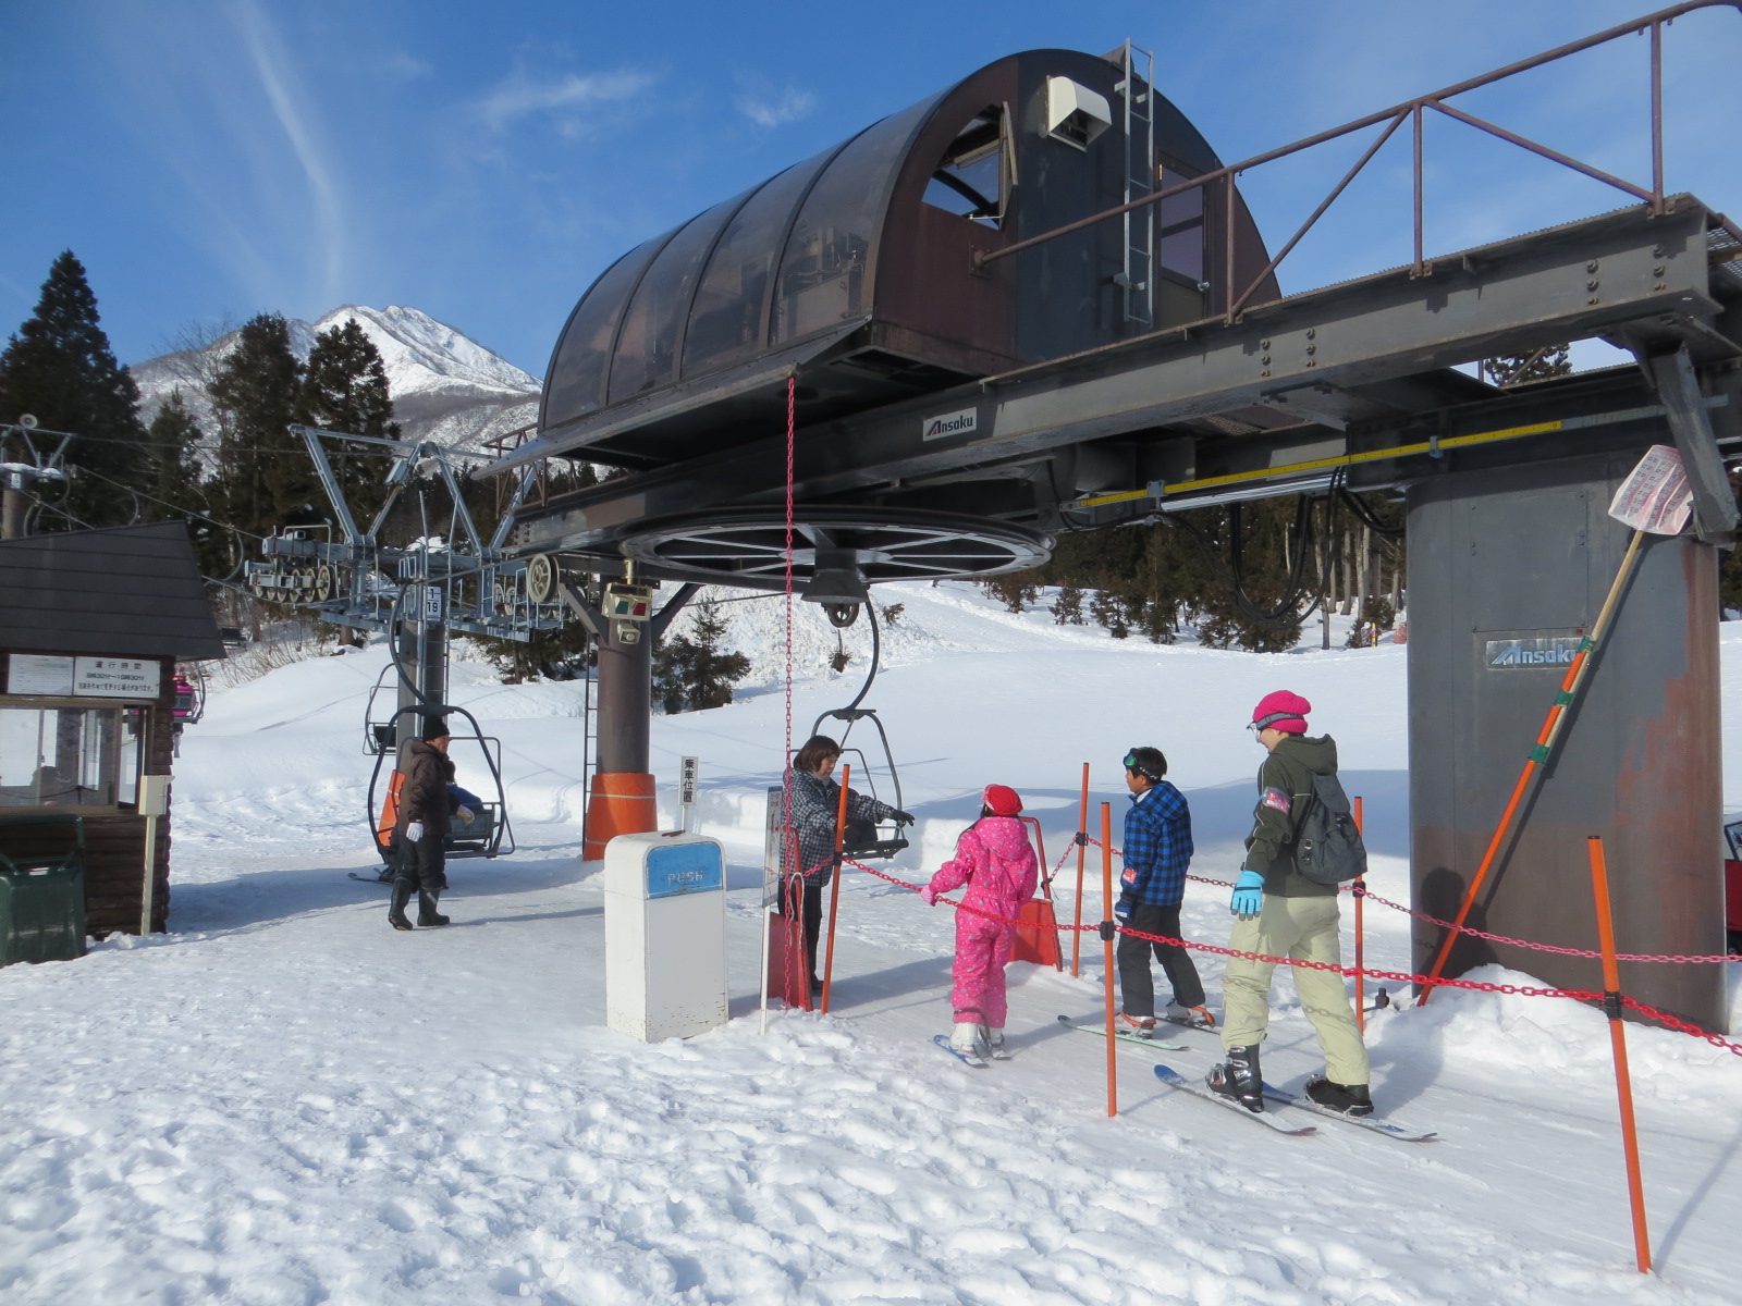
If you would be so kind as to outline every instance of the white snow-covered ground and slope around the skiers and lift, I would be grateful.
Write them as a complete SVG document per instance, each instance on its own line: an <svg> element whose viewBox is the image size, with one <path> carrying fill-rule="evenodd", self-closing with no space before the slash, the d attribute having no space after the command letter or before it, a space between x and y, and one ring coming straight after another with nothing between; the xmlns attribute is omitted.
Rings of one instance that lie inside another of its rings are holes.
<svg viewBox="0 0 1742 1306"><path fill-rule="evenodd" d="M869 703L920 817L892 872L934 869L989 780L1075 829L1082 764L1124 804L1120 757L1162 747L1192 801L1195 871L1235 867L1265 691L1315 703L1367 799L1371 883L1406 893L1404 650L1254 656L1155 648L1012 615L967 587L902 603ZM456 702L498 735L519 852L455 862L455 925L394 933L362 825L380 648L214 695L176 775L169 935L0 972L0 1301L547 1306L615 1303L1732 1303L1742 1060L1629 1029L1658 1273L1632 1269L1599 1013L1448 993L1369 1022L1399 1144L1338 1121L1272 1134L1057 1026L1101 1005L1084 973L1010 968L1014 1059L970 1071L949 1022L953 918L850 872L834 1010L756 1017L763 791L786 735L779 603L721 608L756 672L730 707L657 717L653 764L702 759L700 825L728 852L732 1022L641 1045L603 1017L603 893L582 864L578 684ZM852 698L866 634L800 609L793 730ZM1742 627L1725 630L1726 697ZM462 780L481 785L456 745ZM1726 794L1737 799L1733 733ZM1090 871L1096 865L1090 860ZM1075 860L1054 888L1075 893ZM1097 874L1085 916L1097 919ZM1066 919L1070 909L1064 911ZM1406 921L1371 909L1399 968ZM1345 914L1345 926L1347 926ZM1188 933L1225 942L1226 892L1192 885ZM671 965L681 966L683 958ZM1219 963L1200 968L1219 1005ZM1519 980L1493 972L1489 979ZM1165 982L1164 982L1165 984ZM1596 975L1592 975L1596 984ZM1319 1069L1279 977L1265 1067ZM1212 1036L1167 1059L1202 1076ZM1286 1109L1284 1109L1286 1111Z"/></svg>

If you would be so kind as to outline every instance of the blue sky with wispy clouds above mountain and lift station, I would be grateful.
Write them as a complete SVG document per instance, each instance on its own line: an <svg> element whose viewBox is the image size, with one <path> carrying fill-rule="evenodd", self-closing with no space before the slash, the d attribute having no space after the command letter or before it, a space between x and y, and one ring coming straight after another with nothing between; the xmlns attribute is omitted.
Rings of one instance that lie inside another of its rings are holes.
<svg viewBox="0 0 1742 1306"><path fill-rule="evenodd" d="M1643 0L56 0L0 3L0 333L61 249L124 362L188 324L401 303L542 376L629 246L1019 49L1157 52L1225 160L1646 12ZM1742 214L1742 17L1667 37L1669 183ZM1644 38L1458 101L1648 179ZM1273 246L1364 143L1244 186ZM1408 258L1402 134L1284 265L1305 289ZM1625 202L1428 129L1428 244Z"/></svg>

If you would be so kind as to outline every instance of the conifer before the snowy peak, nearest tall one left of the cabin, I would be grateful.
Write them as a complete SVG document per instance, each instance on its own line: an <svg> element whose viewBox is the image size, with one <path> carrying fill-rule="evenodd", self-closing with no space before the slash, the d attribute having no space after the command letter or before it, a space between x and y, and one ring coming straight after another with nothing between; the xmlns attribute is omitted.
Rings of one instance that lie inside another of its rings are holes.
<svg viewBox="0 0 1742 1306"><path fill-rule="evenodd" d="M355 317L315 336L303 364L301 411L322 430L399 439L387 369L375 341ZM333 474L359 524L368 524L387 498L387 461L380 448L327 442Z"/></svg>

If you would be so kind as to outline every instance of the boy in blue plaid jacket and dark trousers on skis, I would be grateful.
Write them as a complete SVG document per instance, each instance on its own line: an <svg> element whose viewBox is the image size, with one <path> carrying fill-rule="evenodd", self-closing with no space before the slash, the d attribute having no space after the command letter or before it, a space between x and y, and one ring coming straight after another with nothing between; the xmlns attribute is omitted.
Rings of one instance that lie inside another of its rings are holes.
<svg viewBox="0 0 1742 1306"><path fill-rule="evenodd" d="M1160 749L1132 749L1125 754L1125 787L1131 810L1125 811L1125 871L1113 916L1129 930L1179 937L1179 900L1186 892L1186 867L1192 865L1192 808L1185 794L1164 777L1167 757ZM1150 979L1150 949L1174 986L1174 1000L1162 1012L1165 1020L1212 1029L1216 1019L1204 1006L1204 982L1192 954L1179 944L1155 944L1148 939L1120 935L1118 991L1124 998L1120 1027L1150 1038L1155 1033L1155 984Z"/></svg>

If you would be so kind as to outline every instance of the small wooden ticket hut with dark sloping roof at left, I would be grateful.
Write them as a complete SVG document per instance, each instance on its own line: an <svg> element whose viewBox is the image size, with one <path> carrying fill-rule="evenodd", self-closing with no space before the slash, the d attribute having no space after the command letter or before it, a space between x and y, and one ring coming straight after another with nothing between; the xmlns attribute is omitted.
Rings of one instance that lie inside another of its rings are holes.
<svg viewBox="0 0 1742 1306"><path fill-rule="evenodd" d="M7 817L80 815L98 937L143 923L141 791L171 773L176 663L223 655L179 522L0 540L0 848L44 852L7 845ZM165 799L152 930L169 925L169 825Z"/></svg>

